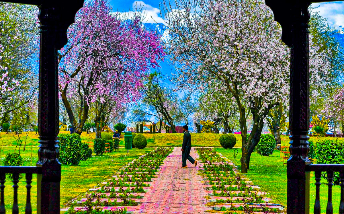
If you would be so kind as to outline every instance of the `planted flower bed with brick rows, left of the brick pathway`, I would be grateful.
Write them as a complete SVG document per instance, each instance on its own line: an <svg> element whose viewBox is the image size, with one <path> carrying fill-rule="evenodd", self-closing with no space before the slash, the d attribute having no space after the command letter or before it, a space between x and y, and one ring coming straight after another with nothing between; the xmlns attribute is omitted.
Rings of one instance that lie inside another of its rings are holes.
<svg viewBox="0 0 344 214"><path fill-rule="evenodd" d="M67 214L83 213L87 209L125 214L130 206L137 206L149 190L149 182L172 148L158 148L123 167L102 186L90 189L86 198L74 200Z"/></svg>

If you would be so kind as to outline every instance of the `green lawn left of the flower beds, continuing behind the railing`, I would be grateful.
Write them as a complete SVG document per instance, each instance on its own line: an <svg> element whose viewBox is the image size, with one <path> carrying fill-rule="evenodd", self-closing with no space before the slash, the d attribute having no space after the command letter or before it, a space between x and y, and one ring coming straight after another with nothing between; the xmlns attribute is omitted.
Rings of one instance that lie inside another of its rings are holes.
<svg viewBox="0 0 344 214"><path fill-rule="evenodd" d="M14 147L0 147L0 165L4 155L8 152L13 152ZM32 149L32 152L31 152ZM152 151L154 148L145 149L120 149L119 152L107 153L102 156L93 156L86 161L81 161L79 166L68 167L62 166L62 180L61 180L61 206L66 204L69 200L84 194L88 189L93 188L98 183L114 174L119 168L131 162L133 159L140 157L142 154ZM38 147L27 147L25 152L21 151L21 155L25 166L35 165L37 162ZM32 157L32 158L31 158ZM12 182L7 179L5 188L5 203L6 213L12 213L13 204L13 190L11 188ZM25 178L18 183L18 200L20 213L25 212L26 188ZM36 195L37 195L37 181L36 175L33 176L33 188L31 189L31 201L33 213L36 213Z"/></svg>

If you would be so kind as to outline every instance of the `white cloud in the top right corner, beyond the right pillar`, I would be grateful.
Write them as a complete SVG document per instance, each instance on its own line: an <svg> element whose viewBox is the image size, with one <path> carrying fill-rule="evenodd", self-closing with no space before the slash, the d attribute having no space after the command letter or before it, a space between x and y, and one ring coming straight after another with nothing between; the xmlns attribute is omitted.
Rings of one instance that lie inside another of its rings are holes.
<svg viewBox="0 0 344 214"><path fill-rule="evenodd" d="M335 26L337 29L344 30L344 3L330 2L330 3L313 3L311 7L315 8L313 11L319 11L319 14L327 21L330 26Z"/></svg>

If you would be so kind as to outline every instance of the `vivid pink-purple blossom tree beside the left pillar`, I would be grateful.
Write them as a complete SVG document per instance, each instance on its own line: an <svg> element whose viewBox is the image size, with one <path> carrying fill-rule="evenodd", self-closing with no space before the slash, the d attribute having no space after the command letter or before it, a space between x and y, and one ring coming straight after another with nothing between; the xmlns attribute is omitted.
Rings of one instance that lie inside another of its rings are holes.
<svg viewBox="0 0 344 214"><path fill-rule="evenodd" d="M86 1L75 20L58 60L61 99L80 134L91 104L110 114L136 101L147 72L164 52L160 37L143 28L139 16L122 20L107 0ZM96 123L104 116L98 113Z"/></svg>

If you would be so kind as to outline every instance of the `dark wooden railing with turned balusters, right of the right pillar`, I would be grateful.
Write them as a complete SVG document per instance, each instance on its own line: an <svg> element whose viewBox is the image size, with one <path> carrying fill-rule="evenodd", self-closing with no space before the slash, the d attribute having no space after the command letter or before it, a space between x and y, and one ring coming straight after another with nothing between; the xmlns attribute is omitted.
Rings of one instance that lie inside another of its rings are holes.
<svg viewBox="0 0 344 214"><path fill-rule="evenodd" d="M326 214L333 213L332 206L332 186L333 186L333 173L339 172L340 176L340 186L341 186L341 199L339 206L339 214L344 214L344 164L309 164L306 165L307 172L315 172L315 204L314 204L314 214L320 214L320 181L321 173L327 172L327 186L328 186L328 195L327 195L327 206Z"/></svg>

